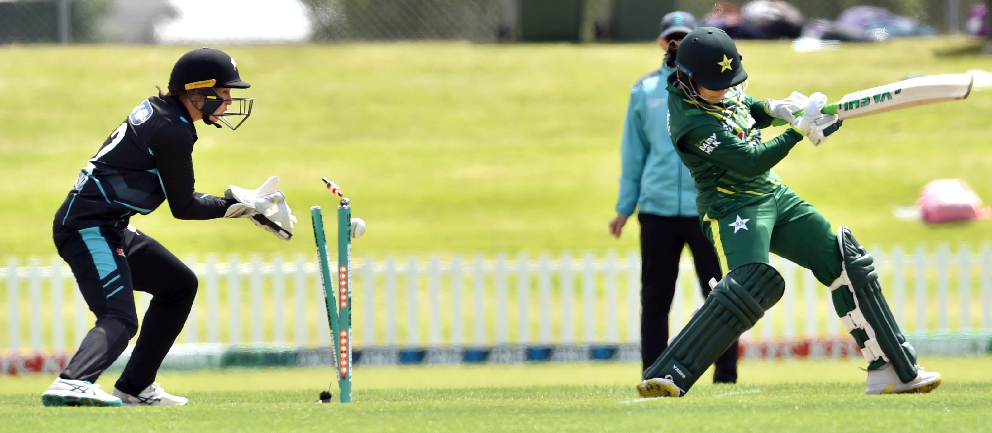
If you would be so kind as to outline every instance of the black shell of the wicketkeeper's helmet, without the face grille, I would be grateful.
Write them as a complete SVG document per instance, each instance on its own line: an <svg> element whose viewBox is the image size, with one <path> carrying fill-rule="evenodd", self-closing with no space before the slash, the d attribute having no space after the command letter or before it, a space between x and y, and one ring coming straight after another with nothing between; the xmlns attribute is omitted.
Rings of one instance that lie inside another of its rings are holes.
<svg viewBox="0 0 992 433"><path fill-rule="evenodd" d="M210 82L213 80L213 82ZM246 89L251 87L241 80L238 64L230 55L203 47L183 54L173 73L169 76L169 91L184 93L200 87L228 87Z"/></svg>

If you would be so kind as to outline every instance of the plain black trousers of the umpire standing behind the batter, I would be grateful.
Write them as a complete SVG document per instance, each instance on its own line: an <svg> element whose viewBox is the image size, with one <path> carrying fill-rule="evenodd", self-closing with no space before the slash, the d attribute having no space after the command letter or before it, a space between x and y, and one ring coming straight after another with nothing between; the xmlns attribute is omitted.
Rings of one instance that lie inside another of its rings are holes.
<svg viewBox="0 0 992 433"><path fill-rule="evenodd" d="M682 248L688 244L702 295L709 278L720 279L713 244L696 217L663 217L641 213L641 362L647 370L669 347L669 311L676 293ZM714 382L737 381L737 342L716 360Z"/></svg>

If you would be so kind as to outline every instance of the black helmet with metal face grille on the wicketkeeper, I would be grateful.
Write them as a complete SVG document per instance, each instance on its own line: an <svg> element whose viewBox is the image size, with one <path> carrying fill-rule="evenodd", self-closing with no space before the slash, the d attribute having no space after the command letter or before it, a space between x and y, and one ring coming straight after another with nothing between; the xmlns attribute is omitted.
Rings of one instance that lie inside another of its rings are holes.
<svg viewBox="0 0 992 433"><path fill-rule="evenodd" d="M205 100L202 107L196 108L200 113L203 113L203 123L220 128L220 125L210 121L210 116L213 116L214 110L224 102L217 95L216 90L214 90L215 87L235 89L251 87L251 84L241 80L241 75L238 73L238 63L230 55L220 50L203 47L183 54L176 61L176 65L173 66L173 73L169 76L169 92L172 94L185 92L192 102ZM236 130L251 115L255 98L231 98L228 100L233 101L232 104L237 103L239 109L226 111L217 116L217 119L230 129ZM193 104L194 107L195 105ZM228 116L244 117L237 125L234 125L227 120Z"/></svg>

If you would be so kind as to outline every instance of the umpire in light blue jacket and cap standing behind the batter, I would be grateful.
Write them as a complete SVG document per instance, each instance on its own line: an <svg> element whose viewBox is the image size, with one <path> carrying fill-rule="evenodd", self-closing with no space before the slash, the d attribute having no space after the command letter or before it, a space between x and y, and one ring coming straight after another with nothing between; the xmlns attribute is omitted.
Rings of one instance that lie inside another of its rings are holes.
<svg viewBox="0 0 992 433"><path fill-rule="evenodd" d="M695 19L672 12L662 19L658 45L665 50L662 67L634 84L624 119L620 147L620 196L610 234L619 238L627 218L638 209L641 223L641 361L654 364L669 341L669 310L675 297L682 249L688 244L703 296L707 281L720 279L713 245L699 226L695 182L676 154L668 129L667 78L675 71L682 38L695 29ZM716 361L714 382L737 381L737 342Z"/></svg>

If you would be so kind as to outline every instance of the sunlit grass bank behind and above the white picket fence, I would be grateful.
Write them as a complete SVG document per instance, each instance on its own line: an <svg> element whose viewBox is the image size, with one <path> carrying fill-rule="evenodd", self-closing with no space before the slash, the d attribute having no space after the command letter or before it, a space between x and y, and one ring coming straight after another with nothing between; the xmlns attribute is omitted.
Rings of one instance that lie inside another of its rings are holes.
<svg viewBox="0 0 992 433"><path fill-rule="evenodd" d="M965 39L846 45L794 53L742 43L748 91L831 98L911 73L992 70L992 57L936 55ZM197 189L282 176L300 217L290 243L246 221L136 217L177 254L313 248L307 208L333 206L327 175L369 224L359 256L387 253L626 250L607 235L627 89L660 52L635 45L376 44L221 47L257 98L238 131L199 127ZM188 47L0 48L0 256L49 256L52 215L86 160ZM898 221L930 179L960 177L992 199L990 93L856 119L821 148L798 146L776 170L834 224L874 244L989 239L988 224ZM766 138L778 132L769 131Z"/></svg>

